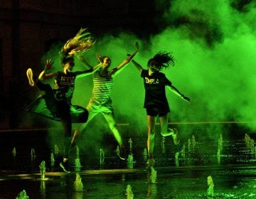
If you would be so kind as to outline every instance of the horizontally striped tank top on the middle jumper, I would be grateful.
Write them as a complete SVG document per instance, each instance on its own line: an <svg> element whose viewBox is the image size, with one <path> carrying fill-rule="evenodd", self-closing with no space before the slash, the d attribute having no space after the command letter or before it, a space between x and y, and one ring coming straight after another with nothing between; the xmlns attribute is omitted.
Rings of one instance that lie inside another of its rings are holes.
<svg viewBox="0 0 256 199"><path fill-rule="evenodd" d="M112 77L100 77L100 71L95 72L93 78L92 97L98 102L106 102L112 93Z"/></svg>

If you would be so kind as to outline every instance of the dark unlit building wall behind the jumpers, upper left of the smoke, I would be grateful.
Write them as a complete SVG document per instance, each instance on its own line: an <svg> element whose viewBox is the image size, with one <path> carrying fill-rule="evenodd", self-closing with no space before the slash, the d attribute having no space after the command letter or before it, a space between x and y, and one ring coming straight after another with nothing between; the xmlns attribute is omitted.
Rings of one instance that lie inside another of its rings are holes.
<svg viewBox="0 0 256 199"><path fill-rule="evenodd" d="M127 30L146 36L152 1L4 0L0 2L0 129L19 127L28 98L26 69L41 64L50 45L80 28L93 36Z"/></svg>

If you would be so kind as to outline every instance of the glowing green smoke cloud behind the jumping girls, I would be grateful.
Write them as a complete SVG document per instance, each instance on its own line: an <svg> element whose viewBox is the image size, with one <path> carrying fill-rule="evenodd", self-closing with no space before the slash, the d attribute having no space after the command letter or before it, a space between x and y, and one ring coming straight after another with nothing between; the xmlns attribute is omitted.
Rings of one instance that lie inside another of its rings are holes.
<svg viewBox="0 0 256 199"><path fill-rule="evenodd" d="M159 2L158 6L166 5L164 2ZM191 104L186 104L167 91L171 107L170 122L237 121L255 130L255 3L247 4L242 12L235 9L230 1L181 0L173 1L171 5L166 8L163 18L159 18L166 27L161 33L151 36L149 41L125 32L115 37L105 35L97 38L95 47L85 53L85 59L95 65L95 55L101 53L110 56L111 68L114 68L126 58L127 53L134 50L134 43L139 41L141 51L134 60L146 68L147 60L159 50L170 51L176 58L176 66L163 72L178 90L192 100ZM57 54L52 55L55 58ZM75 62L75 70L84 69L79 60ZM61 69L59 65L56 68ZM92 76L77 80L73 104L85 107L91 92ZM117 122L136 127L130 134L145 135L144 86L134 65L127 65L115 77L112 101ZM95 128L97 131L110 131L103 117L97 116L93 120L100 125L88 125L87 131L92 131L90 127L93 131ZM185 128L180 127L186 132ZM221 127L214 128L215 131L223 131ZM205 131L206 134L209 131L211 136L218 136L213 135L213 129Z"/></svg>

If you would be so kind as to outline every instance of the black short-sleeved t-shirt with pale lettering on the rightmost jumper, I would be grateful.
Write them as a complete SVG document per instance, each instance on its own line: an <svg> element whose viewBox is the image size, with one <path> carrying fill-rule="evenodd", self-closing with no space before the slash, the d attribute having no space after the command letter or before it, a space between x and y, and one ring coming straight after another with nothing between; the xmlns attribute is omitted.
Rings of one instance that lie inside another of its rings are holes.
<svg viewBox="0 0 256 199"><path fill-rule="evenodd" d="M141 77L144 79L145 88L144 108L163 107L169 109L165 86L171 85L171 82L164 73L154 72L149 76L149 70L142 70Z"/></svg>

